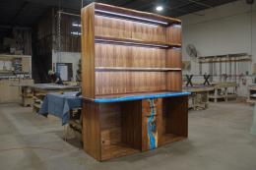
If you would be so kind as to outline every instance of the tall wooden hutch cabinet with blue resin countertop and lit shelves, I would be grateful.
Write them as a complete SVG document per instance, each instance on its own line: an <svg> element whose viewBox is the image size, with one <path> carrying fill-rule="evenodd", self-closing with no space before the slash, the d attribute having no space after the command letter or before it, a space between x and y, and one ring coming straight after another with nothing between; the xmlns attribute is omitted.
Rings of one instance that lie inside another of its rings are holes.
<svg viewBox="0 0 256 170"><path fill-rule="evenodd" d="M181 22L92 3L82 10L84 149L97 160L187 138Z"/></svg>

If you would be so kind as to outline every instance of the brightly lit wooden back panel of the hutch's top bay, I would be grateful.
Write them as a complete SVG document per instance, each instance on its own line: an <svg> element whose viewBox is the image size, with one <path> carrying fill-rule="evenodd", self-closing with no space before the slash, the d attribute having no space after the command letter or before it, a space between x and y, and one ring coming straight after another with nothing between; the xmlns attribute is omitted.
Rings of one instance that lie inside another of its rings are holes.
<svg viewBox="0 0 256 170"><path fill-rule="evenodd" d="M165 42L166 28L116 18L96 16L96 35Z"/></svg>

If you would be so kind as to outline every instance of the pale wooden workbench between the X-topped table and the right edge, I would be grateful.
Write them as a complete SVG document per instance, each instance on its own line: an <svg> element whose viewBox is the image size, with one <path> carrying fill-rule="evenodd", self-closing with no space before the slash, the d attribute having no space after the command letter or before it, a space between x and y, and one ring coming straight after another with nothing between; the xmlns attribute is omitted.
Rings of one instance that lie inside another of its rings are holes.
<svg viewBox="0 0 256 170"><path fill-rule="evenodd" d="M218 99L227 101L229 98L237 97L237 84L236 83L213 83L214 90L210 93L209 99L217 102ZM232 88L232 92L228 93L228 89Z"/></svg>

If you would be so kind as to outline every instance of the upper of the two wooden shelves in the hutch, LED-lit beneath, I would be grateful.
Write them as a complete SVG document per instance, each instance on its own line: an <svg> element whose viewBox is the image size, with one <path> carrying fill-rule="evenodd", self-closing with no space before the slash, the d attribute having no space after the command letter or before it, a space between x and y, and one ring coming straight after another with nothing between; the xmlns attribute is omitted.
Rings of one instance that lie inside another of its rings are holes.
<svg viewBox="0 0 256 170"><path fill-rule="evenodd" d="M120 38L111 36L96 36L96 43L113 43L113 44L123 44L123 45L138 45L147 47L157 47L157 48L181 48L181 44L168 43L160 41L145 41L142 39L134 38Z"/></svg>

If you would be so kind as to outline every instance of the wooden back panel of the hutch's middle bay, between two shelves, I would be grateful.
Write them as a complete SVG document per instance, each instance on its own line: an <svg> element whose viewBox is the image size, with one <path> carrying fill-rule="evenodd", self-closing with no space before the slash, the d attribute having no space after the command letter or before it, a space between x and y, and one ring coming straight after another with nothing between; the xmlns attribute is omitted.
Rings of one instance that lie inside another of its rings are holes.
<svg viewBox="0 0 256 170"><path fill-rule="evenodd" d="M96 67L165 68L165 55L160 48L96 43Z"/></svg>

